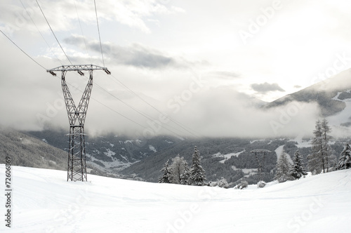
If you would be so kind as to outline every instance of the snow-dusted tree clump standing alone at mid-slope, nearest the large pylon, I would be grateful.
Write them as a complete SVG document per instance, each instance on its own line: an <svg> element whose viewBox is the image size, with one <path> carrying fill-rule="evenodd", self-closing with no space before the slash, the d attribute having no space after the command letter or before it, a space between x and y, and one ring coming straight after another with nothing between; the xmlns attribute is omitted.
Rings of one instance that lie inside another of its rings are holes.
<svg viewBox="0 0 351 233"><path fill-rule="evenodd" d="M172 159L172 164L166 161L164 168L161 169L162 176L159 178L159 183L173 183L180 185L204 185L205 171L201 166L200 153L197 147L192 154L192 166L187 166L187 161L179 155Z"/></svg>

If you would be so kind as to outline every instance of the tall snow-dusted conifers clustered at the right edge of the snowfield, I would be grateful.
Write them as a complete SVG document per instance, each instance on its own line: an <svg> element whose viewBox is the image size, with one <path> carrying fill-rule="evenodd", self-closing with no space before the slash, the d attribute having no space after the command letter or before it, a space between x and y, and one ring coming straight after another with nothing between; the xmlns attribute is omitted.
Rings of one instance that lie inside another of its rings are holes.
<svg viewBox="0 0 351 233"><path fill-rule="evenodd" d="M313 131L312 153L307 155L307 167L312 174L328 173L333 168L336 170L351 168L351 147L347 143L341 152L339 161L336 163L336 156L331 152L330 140L331 127L326 119L316 122ZM303 166L303 157L297 150L294 154L293 164L289 162L288 154L284 151L277 161L277 172L274 180L285 182L286 180L297 180L307 175Z"/></svg>

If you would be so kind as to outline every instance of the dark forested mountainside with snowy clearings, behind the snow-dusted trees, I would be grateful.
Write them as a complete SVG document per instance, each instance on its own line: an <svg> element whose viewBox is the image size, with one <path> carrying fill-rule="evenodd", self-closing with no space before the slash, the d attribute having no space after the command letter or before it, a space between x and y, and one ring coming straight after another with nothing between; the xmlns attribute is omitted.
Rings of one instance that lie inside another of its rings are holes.
<svg viewBox="0 0 351 233"><path fill-rule="evenodd" d="M245 138L202 138L199 140L184 140L176 145L168 147L164 152L155 152L149 157L138 163L132 164L128 168L120 171L124 175L133 175L142 180L157 182L161 176L161 168L166 161L172 163L171 159L179 155L184 157L188 166L192 164L192 154L194 147L200 152L201 166L206 171L206 179L217 181L225 178L231 186L236 185L242 178L249 183L257 183L258 161L255 154L251 153L254 149L268 149L270 153L266 154L263 162L264 180L269 182L273 180L274 169L277 164L277 157L282 154L282 150L293 157L297 149L303 156L306 163L307 154L310 154L311 141L308 140L291 140L289 138L276 139L245 139ZM334 141L331 145L332 154L336 157L343 150L343 142ZM258 154L258 159L263 159L263 154Z"/></svg>

